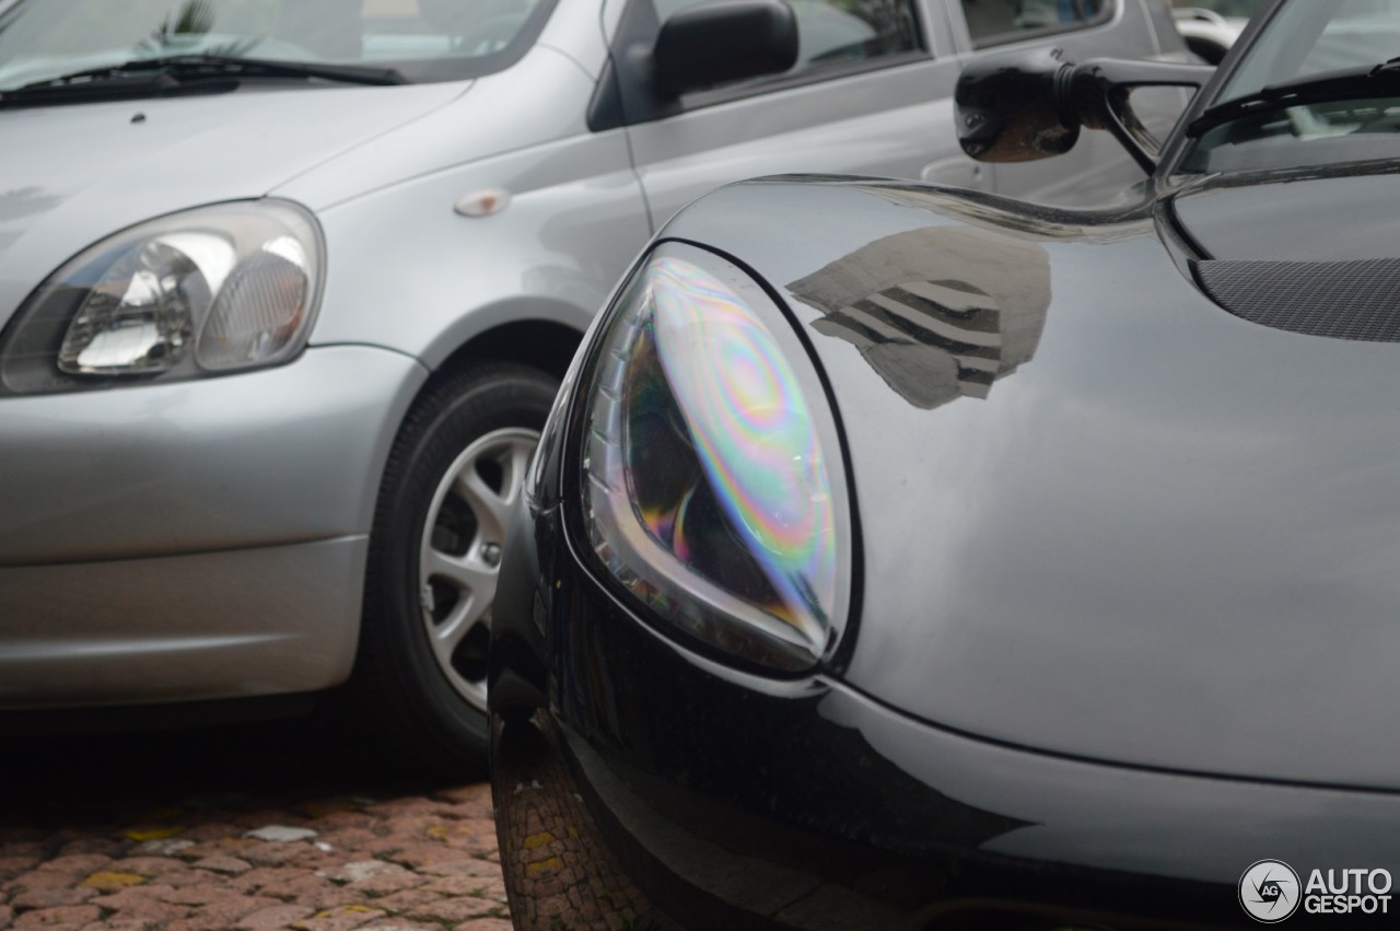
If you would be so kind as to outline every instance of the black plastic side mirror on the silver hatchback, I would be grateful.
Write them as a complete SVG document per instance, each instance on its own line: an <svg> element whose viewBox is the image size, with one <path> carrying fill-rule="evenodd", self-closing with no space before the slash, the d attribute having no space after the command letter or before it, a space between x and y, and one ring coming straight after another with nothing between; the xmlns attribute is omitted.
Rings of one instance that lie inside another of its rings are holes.
<svg viewBox="0 0 1400 931"><path fill-rule="evenodd" d="M652 48L652 76L666 97L797 63L797 17L785 0L715 0L666 20Z"/></svg>

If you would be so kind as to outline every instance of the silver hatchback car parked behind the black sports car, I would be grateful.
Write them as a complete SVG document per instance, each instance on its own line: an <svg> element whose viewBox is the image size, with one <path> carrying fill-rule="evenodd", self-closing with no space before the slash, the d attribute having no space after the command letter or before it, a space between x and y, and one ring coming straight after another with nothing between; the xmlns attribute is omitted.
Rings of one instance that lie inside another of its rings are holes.
<svg viewBox="0 0 1400 931"><path fill-rule="evenodd" d="M1162 0L0 0L0 708L349 682L479 755L505 514L636 251L771 172L1121 188L960 154L1016 43L1182 52Z"/></svg>

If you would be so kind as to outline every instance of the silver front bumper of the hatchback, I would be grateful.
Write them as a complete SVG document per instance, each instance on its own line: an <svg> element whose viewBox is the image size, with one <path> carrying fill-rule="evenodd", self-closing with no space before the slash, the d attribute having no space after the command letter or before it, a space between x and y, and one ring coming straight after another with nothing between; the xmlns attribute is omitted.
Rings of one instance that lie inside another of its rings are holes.
<svg viewBox="0 0 1400 931"><path fill-rule="evenodd" d="M337 346L227 378L0 399L0 707L343 680L384 462L424 377Z"/></svg>

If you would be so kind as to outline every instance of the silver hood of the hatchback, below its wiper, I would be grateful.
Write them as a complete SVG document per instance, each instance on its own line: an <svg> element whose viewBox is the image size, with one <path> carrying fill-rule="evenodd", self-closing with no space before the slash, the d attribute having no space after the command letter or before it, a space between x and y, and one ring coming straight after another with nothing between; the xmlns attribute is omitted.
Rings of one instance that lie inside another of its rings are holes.
<svg viewBox="0 0 1400 931"><path fill-rule="evenodd" d="M0 111L0 137L22 140L0 147L0 325L42 276L97 239L174 210L263 196L462 91L244 88Z"/></svg>

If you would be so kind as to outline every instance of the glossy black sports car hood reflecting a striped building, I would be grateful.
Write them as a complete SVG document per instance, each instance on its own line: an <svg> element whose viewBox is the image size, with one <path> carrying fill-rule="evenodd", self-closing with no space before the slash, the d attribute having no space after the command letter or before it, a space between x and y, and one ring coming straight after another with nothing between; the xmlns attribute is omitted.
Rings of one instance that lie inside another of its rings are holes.
<svg viewBox="0 0 1400 931"><path fill-rule="evenodd" d="M833 675L1009 745L1400 788L1400 349L1235 316L1162 230L809 179L664 235L784 293L830 382Z"/></svg>

